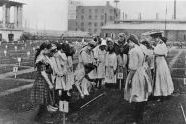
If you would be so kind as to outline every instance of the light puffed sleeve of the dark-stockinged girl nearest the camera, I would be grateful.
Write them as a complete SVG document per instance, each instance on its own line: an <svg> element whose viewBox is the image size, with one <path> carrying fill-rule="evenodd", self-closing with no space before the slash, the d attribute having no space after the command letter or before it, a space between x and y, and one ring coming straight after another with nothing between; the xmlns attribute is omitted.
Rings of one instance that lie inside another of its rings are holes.
<svg viewBox="0 0 186 124"><path fill-rule="evenodd" d="M136 70L138 68L138 53L131 50L129 52L129 69Z"/></svg>

